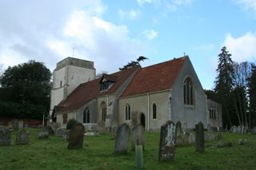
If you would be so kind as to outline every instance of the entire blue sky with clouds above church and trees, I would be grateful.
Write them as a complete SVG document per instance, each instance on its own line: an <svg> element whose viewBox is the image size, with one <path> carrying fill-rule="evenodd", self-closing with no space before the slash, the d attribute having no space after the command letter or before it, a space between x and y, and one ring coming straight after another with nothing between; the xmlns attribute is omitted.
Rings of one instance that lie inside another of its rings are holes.
<svg viewBox="0 0 256 170"><path fill-rule="evenodd" d="M189 55L213 89L222 46L256 61L256 0L0 0L0 70L29 60L51 71L66 57L114 73Z"/></svg>

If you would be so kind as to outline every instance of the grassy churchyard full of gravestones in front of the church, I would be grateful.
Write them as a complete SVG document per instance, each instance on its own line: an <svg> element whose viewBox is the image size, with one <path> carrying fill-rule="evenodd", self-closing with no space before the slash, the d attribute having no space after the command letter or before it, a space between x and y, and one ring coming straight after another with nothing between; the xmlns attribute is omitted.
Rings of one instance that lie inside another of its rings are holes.
<svg viewBox="0 0 256 170"><path fill-rule="evenodd" d="M86 136L66 128L0 127L0 169L247 169L256 167L256 132L194 129L167 121L161 132L141 125ZM237 129L237 128L236 128ZM90 132L93 133L93 132Z"/></svg>

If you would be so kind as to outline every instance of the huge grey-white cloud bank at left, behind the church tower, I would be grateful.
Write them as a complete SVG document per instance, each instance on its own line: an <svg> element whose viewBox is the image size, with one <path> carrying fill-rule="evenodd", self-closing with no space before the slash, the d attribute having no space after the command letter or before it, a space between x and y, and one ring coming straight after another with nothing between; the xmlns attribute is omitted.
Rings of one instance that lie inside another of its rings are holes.
<svg viewBox="0 0 256 170"><path fill-rule="evenodd" d="M102 19L100 0L6 0L0 6L0 65L42 61L51 70L67 56L94 61L97 71L118 70L145 53L127 26ZM131 15L133 12L131 12ZM8 17L6 17L8 16Z"/></svg>

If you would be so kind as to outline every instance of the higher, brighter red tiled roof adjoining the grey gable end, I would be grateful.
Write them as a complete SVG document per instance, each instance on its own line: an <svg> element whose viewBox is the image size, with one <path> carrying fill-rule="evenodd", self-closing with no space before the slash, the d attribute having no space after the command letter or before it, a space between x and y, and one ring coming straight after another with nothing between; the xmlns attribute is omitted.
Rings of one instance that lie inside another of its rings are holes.
<svg viewBox="0 0 256 170"><path fill-rule="evenodd" d="M121 97L170 89L185 61L186 57L179 57L139 69Z"/></svg>

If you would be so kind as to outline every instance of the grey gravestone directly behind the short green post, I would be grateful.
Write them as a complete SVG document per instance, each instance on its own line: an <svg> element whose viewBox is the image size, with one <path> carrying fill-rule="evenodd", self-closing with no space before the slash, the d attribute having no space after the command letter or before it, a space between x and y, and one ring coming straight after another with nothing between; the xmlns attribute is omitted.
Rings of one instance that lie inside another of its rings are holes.
<svg viewBox="0 0 256 170"><path fill-rule="evenodd" d="M131 148L133 151L135 150L135 145L142 145L143 150L145 149L144 132L145 132L145 128L142 125L136 125L132 129Z"/></svg>

